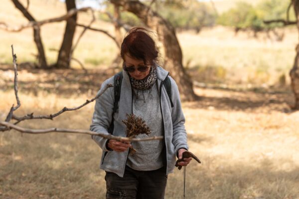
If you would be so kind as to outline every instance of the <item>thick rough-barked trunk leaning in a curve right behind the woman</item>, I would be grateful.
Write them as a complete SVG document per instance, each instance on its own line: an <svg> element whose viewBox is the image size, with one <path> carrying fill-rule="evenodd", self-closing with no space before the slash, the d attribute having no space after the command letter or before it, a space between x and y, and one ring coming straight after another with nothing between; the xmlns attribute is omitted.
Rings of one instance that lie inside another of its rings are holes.
<svg viewBox="0 0 299 199"><path fill-rule="evenodd" d="M192 88L190 77L186 74L182 64L182 51L175 35L174 28L168 21L163 19L158 13L150 9L139 0L110 0L113 4L123 6L124 10L134 13L149 28L155 30L158 39L163 44L164 67L170 71L175 79L182 100L195 100L196 95Z"/></svg>

